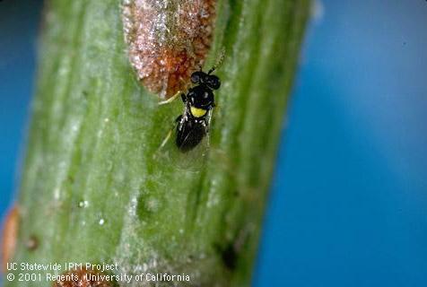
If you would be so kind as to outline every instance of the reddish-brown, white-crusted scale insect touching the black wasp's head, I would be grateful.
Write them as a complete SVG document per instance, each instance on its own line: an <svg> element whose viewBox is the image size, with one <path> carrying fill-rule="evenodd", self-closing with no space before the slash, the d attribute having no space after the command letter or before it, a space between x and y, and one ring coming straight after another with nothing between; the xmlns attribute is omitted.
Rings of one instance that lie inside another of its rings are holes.
<svg viewBox="0 0 427 287"><path fill-rule="evenodd" d="M123 28L138 80L162 100L186 91L212 42L216 0L124 0Z"/></svg>

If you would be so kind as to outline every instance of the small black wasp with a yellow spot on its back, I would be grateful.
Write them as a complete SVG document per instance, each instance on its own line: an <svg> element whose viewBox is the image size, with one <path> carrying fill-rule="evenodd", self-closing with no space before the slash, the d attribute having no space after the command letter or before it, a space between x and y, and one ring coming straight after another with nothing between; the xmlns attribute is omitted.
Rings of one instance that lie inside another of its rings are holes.
<svg viewBox="0 0 427 287"><path fill-rule="evenodd" d="M220 78L212 74L214 68L206 74L198 71L191 74L191 83L196 84L182 93L184 113L177 117L176 143L181 152L191 151L200 143L209 129L212 109L215 107L213 90L221 86Z"/></svg>

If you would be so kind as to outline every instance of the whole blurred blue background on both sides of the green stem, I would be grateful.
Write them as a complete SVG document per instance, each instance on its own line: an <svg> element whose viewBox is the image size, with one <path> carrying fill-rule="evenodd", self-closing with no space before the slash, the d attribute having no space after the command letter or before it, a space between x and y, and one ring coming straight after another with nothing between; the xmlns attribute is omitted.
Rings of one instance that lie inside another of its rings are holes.
<svg viewBox="0 0 427 287"><path fill-rule="evenodd" d="M0 213L17 187L39 0L0 2ZM318 2L254 286L427 286L427 2Z"/></svg>

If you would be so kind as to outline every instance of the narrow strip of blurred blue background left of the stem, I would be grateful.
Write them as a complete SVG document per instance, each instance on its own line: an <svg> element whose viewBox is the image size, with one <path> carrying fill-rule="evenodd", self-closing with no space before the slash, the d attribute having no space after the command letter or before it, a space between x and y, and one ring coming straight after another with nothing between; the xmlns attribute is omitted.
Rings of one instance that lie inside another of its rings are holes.
<svg viewBox="0 0 427 287"><path fill-rule="evenodd" d="M0 1L0 216L18 186L35 83L40 0Z"/></svg>

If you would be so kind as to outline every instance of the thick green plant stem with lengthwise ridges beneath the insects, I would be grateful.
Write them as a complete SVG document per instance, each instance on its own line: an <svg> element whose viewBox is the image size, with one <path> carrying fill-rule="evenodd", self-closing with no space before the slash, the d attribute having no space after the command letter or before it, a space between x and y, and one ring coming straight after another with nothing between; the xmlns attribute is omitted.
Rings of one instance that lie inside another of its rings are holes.
<svg viewBox="0 0 427 287"><path fill-rule="evenodd" d="M220 0L217 14L209 147L182 154L158 151L182 103L159 107L136 81L119 1L48 2L13 261L248 285L309 1ZM5 283L27 285L49 284Z"/></svg>

